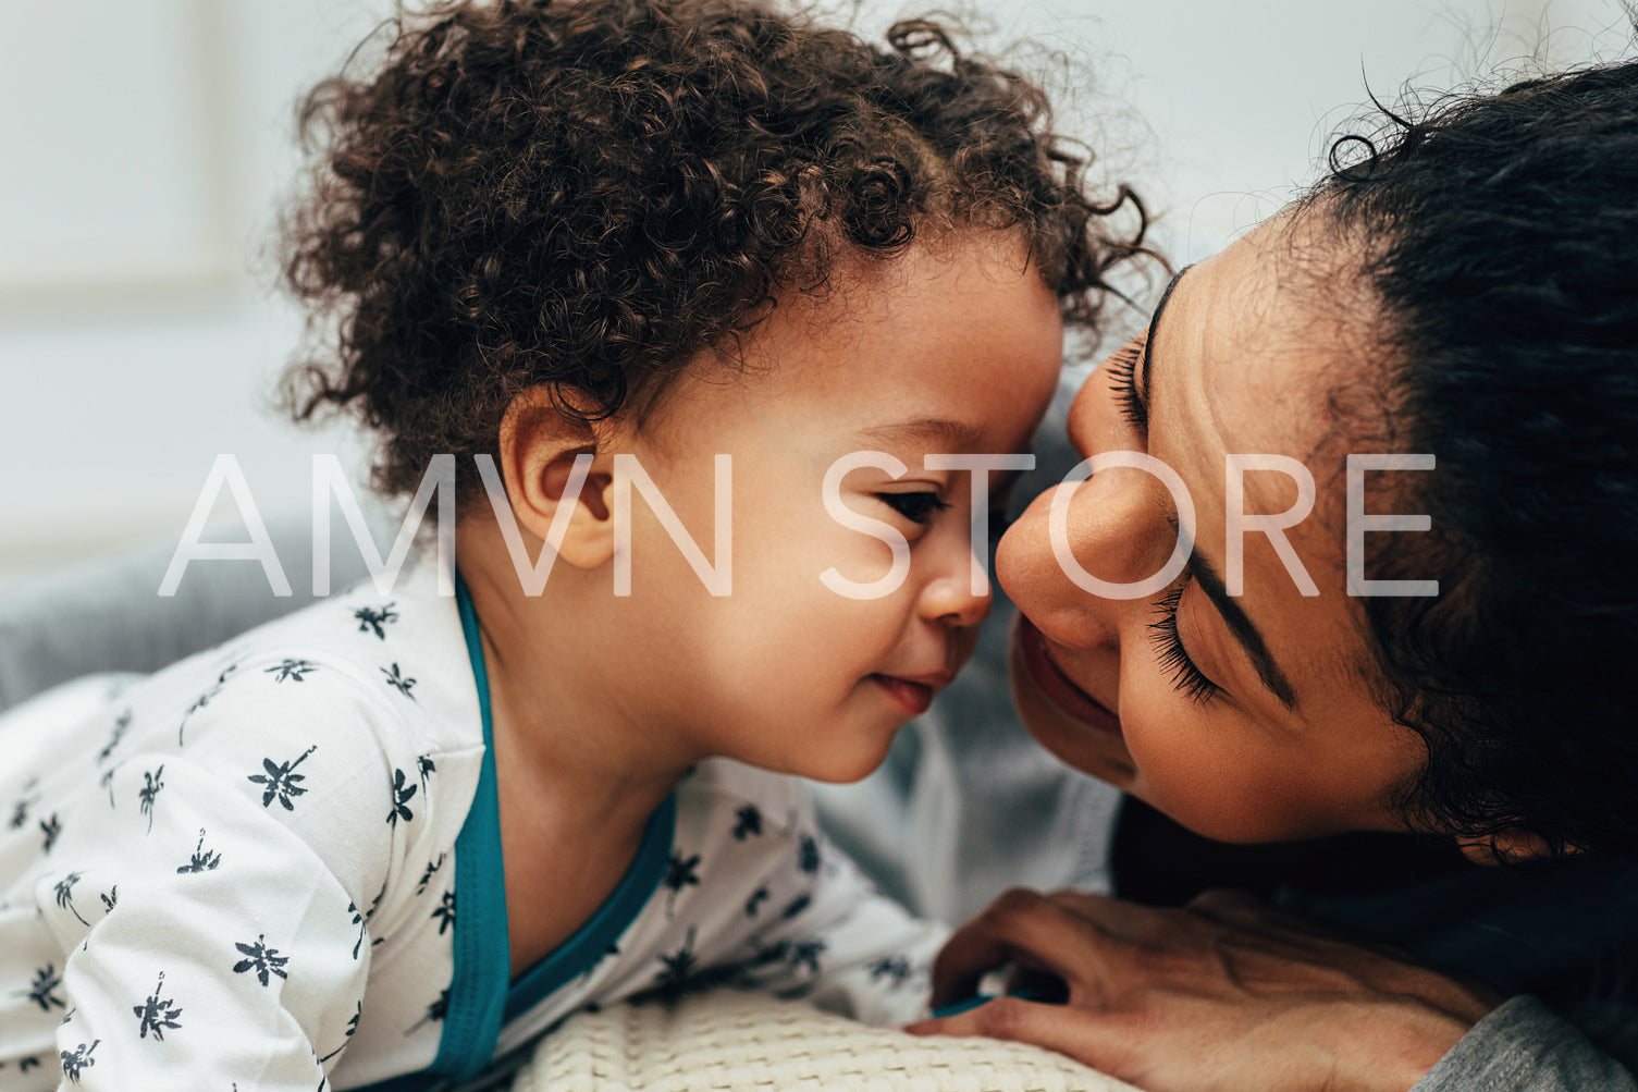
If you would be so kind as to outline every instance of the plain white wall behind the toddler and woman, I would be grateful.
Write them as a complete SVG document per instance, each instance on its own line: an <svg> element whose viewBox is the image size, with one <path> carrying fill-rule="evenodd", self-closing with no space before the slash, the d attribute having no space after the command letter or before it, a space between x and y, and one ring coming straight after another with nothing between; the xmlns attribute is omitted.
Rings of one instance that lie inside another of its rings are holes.
<svg viewBox="0 0 1638 1092"><path fill-rule="evenodd" d="M883 28L898 5L858 5ZM906 7L904 11L937 5ZM0 0L0 587L175 539L218 453L308 505L346 428L269 408L300 320L267 251L298 92L385 0ZM1394 97L1527 54L1615 56L1617 0L989 0L1068 67L1070 131L1199 257L1312 175L1366 80ZM1029 61L1029 54L1020 54ZM1042 57L1037 51L1035 61ZM229 525L224 538L239 538Z"/></svg>

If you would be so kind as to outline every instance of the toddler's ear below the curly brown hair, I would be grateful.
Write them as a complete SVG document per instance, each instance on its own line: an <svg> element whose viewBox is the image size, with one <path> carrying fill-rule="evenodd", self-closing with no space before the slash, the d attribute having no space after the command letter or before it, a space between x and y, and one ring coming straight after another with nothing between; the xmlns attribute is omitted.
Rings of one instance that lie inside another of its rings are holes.
<svg viewBox="0 0 1638 1092"><path fill-rule="evenodd" d="M531 387L506 407L500 431L501 480L531 556L554 523L565 520L559 557L578 569L596 569L614 556L608 443L613 433L606 421L586 423L567 413L549 387ZM580 489L570 494L578 456L591 456L591 466Z"/></svg>

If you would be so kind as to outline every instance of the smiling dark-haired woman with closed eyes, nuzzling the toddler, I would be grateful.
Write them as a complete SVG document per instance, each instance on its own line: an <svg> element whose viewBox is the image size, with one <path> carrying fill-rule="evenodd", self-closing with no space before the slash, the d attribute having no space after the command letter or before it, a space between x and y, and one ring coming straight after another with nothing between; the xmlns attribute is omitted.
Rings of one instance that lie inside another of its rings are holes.
<svg viewBox="0 0 1638 1092"><path fill-rule="evenodd" d="M935 1000L1012 961L1066 1003L917 1030L1155 1092L1635 1087L1638 64L1391 121L1178 275L1071 412L1125 454L998 556L1024 721L1153 808L1124 889L1301 917L1012 892Z"/></svg>

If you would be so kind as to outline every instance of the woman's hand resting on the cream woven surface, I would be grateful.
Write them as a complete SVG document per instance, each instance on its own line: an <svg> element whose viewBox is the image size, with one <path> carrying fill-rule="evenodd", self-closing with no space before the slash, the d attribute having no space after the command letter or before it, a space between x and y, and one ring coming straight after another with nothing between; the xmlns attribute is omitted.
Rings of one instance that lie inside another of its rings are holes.
<svg viewBox="0 0 1638 1092"><path fill-rule="evenodd" d="M1502 1000L1227 890L1183 910L1007 892L945 944L934 1003L1007 962L1063 979L1068 1002L907 1030L1034 1043L1150 1092L1404 1092Z"/></svg>

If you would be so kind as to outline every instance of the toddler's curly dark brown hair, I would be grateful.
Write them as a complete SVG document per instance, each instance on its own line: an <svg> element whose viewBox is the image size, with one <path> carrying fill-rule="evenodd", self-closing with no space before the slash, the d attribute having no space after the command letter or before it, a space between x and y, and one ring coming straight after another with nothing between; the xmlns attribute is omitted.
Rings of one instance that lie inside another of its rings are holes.
<svg viewBox="0 0 1638 1092"><path fill-rule="evenodd" d="M357 412L388 495L436 453L496 451L529 387L585 420L640 408L844 254L1016 230L1091 326L1142 251L1142 205L1088 195L1045 95L930 21L886 49L762 0L457 2L391 26L372 77L303 103L323 159L285 253L334 338L287 403Z"/></svg>

